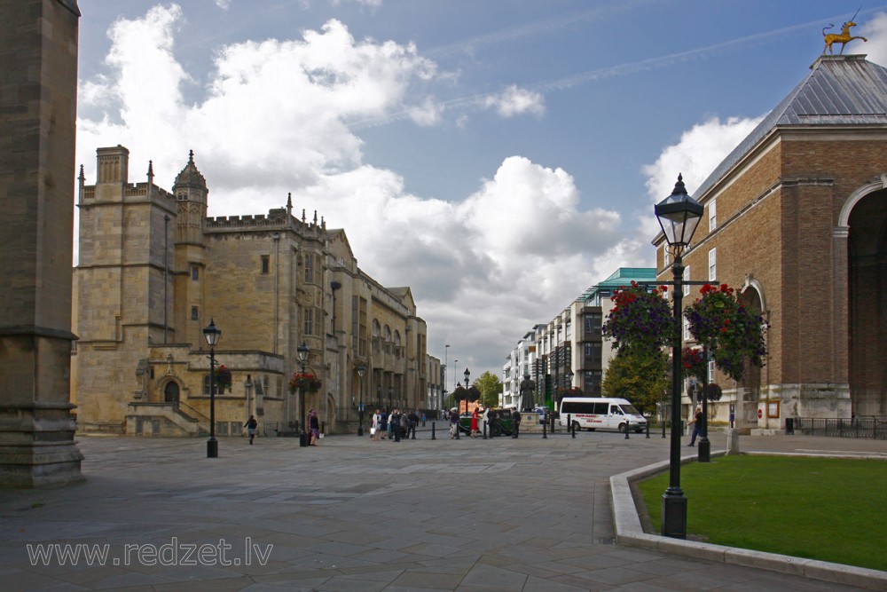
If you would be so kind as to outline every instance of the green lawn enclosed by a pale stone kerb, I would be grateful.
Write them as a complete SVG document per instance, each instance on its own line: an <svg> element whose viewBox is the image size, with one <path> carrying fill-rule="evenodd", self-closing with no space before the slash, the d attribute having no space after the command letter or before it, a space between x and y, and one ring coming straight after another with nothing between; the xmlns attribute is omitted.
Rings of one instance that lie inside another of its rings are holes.
<svg viewBox="0 0 887 592"><path fill-rule="evenodd" d="M638 484L656 532L668 481ZM887 571L887 461L718 456L680 486L690 539Z"/></svg>

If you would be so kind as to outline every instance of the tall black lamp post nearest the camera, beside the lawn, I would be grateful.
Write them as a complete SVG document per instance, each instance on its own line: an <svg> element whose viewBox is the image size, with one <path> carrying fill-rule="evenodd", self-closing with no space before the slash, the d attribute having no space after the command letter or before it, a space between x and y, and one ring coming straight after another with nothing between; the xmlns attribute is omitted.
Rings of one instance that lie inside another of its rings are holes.
<svg viewBox="0 0 887 592"><path fill-rule="evenodd" d="M671 249L674 263L674 322L675 335L671 343L671 454L669 455L669 486L663 493L662 533L675 539L687 538L687 498L680 489L680 342L684 296L684 264L681 256L703 216L703 206L687 194L684 180L678 175L671 195L655 205L655 215L662 226L665 241Z"/></svg>

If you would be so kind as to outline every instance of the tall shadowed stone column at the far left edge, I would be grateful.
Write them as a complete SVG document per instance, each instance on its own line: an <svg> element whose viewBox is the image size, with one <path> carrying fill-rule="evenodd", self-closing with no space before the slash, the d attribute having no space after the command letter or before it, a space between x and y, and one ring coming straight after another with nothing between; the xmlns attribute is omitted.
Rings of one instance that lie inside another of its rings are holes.
<svg viewBox="0 0 887 592"><path fill-rule="evenodd" d="M0 2L0 485L79 480L70 402L76 0Z"/></svg>

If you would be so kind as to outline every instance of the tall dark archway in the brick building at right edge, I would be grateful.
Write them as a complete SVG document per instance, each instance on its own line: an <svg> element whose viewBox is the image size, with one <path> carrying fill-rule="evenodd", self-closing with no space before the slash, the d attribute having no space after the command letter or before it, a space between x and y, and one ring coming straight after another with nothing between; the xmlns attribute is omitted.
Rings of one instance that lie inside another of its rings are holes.
<svg viewBox="0 0 887 592"><path fill-rule="evenodd" d="M887 189L852 203L847 225L852 412L887 414Z"/></svg>

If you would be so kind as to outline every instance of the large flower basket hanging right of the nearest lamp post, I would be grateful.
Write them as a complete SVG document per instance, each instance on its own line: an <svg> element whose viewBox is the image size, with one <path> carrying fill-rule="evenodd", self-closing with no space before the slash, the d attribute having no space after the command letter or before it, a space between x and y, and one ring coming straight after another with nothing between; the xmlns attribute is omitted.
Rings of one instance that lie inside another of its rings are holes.
<svg viewBox="0 0 887 592"><path fill-rule="evenodd" d="M764 366L764 319L749 312L726 284L705 284L700 294L684 316L695 340L708 346L715 366L735 381L742 380L746 362Z"/></svg>

